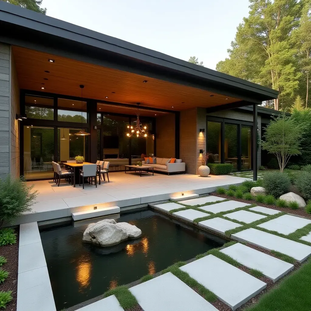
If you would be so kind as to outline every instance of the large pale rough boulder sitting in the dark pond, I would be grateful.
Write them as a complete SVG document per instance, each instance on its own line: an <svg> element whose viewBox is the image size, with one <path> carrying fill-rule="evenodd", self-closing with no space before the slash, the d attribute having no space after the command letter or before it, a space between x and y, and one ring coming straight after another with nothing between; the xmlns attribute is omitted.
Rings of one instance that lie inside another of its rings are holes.
<svg viewBox="0 0 311 311"><path fill-rule="evenodd" d="M114 219L104 219L87 226L83 233L83 241L100 246L111 246L128 238L137 238L141 234L142 231L136 226L116 223Z"/></svg>

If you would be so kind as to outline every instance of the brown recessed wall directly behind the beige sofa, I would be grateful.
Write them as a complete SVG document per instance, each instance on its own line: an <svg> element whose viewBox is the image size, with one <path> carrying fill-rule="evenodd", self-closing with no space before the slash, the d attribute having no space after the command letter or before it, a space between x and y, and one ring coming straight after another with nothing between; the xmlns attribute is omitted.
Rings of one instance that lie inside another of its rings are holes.
<svg viewBox="0 0 311 311"><path fill-rule="evenodd" d="M175 115L164 114L156 118L156 156L175 157Z"/></svg>

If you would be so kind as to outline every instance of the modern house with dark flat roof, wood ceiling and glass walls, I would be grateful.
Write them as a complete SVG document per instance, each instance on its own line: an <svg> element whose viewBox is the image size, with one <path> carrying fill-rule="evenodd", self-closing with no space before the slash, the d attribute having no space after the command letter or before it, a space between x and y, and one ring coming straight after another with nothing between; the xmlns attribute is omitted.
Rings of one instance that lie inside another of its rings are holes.
<svg viewBox="0 0 311 311"><path fill-rule="evenodd" d="M0 29L1 177L53 178L52 160L77 155L120 170L142 154L197 174L204 151L257 171L257 132L277 113L258 105L277 91L2 1ZM137 106L148 134L128 138Z"/></svg>

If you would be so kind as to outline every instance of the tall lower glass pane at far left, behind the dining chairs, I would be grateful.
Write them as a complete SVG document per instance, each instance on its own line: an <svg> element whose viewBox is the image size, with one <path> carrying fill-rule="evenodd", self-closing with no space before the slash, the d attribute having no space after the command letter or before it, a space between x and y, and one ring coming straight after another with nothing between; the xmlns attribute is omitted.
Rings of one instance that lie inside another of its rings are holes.
<svg viewBox="0 0 311 311"><path fill-rule="evenodd" d="M25 179L53 178L54 128L24 126Z"/></svg>

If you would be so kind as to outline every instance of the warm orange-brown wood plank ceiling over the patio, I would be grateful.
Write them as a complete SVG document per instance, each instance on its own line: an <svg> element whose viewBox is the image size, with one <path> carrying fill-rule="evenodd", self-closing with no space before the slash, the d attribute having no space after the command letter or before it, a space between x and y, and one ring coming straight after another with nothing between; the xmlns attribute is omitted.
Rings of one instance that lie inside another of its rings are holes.
<svg viewBox="0 0 311 311"><path fill-rule="evenodd" d="M194 87L18 46L13 46L13 56L21 89L80 97L79 85L84 84L83 97L86 98L124 104L140 102L141 107L178 111L239 101ZM49 59L55 62L51 63Z"/></svg>

